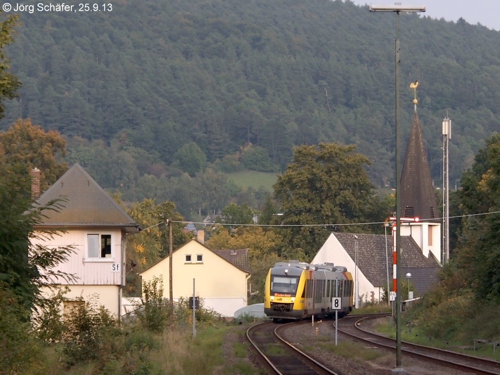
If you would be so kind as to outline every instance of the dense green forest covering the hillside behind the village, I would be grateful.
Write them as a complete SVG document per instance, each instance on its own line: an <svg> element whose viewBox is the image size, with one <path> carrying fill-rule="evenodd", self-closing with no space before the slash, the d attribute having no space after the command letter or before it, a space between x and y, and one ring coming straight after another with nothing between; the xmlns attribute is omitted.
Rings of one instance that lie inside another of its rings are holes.
<svg viewBox="0 0 500 375"><path fill-rule="evenodd" d="M19 14L6 55L22 87L1 130L26 117L58 130L69 165L126 200L170 200L186 216L238 194L262 201L265 191L243 193L221 172L283 171L301 144L355 144L374 185L394 184L394 14L348 0L111 5ZM500 32L401 14L400 40L403 139L418 80L437 186L441 121L452 120L454 187L500 128Z"/></svg>

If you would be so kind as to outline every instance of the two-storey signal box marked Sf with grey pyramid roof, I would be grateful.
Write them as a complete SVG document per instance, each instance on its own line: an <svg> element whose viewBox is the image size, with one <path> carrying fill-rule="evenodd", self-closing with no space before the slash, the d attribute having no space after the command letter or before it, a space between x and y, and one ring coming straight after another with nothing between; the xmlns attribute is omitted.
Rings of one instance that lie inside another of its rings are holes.
<svg viewBox="0 0 500 375"><path fill-rule="evenodd" d="M76 280L53 280L70 290L64 308L80 303L81 297L118 316L125 284L125 236L140 230L139 225L79 164L74 164L36 202L46 204L53 199L64 199L63 208L45 211L46 217L35 229L60 229L60 236L38 239L38 243L48 247L72 245L75 249L57 269L73 274Z"/></svg>

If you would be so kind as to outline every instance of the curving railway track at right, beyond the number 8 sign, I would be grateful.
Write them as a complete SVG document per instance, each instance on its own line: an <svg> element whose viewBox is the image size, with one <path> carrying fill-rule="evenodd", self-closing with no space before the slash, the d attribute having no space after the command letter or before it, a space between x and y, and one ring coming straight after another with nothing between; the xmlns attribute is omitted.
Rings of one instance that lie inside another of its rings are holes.
<svg viewBox="0 0 500 375"><path fill-rule="evenodd" d="M351 315L345 317L338 320L338 332L348 335L355 340L368 342L370 345L385 347L395 351L396 341L394 339L371 332L367 329L368 319L379 316L380 315L359 317ZM434 361L440 365L459 369L467 373L500 375L500 362L491 359L417 345L406 341L401 341L401 352L424 358L425 360Z"/></svg>

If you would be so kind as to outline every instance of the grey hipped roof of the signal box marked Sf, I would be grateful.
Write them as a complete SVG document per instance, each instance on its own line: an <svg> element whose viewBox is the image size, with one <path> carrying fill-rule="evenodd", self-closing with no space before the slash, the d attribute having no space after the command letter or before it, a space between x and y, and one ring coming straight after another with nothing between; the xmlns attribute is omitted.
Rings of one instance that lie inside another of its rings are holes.
<svg viewBox="0 0 500 375"><path fill-rule="evenodd" d="M119 226L125 231L139 225L79 165L74 164L36 202L64 199L58 212L45 210L39 226Z"/></svg>

